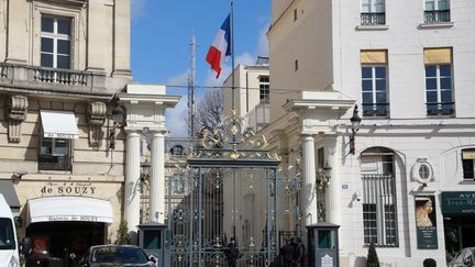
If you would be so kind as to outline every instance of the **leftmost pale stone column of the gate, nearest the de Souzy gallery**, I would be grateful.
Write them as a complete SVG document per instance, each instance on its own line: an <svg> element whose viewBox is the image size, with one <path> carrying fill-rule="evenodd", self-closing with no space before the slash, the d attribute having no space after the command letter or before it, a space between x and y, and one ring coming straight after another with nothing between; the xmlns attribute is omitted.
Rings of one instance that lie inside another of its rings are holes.
<svg viewBox="0 0 475 267"><path fill-rule="evenodd" d="M126 130L125 159L125 198L124 218L129 232L137 232L140 224L140 134L136 130ZM136 244L136 235L131 236Z"/></svg>

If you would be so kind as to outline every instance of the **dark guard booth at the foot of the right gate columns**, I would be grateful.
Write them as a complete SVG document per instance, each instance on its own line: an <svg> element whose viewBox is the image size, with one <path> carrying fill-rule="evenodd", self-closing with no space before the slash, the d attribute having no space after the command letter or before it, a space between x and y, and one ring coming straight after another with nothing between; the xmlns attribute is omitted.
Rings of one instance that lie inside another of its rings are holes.
<svg viewBox="0 0 475 267"><path fill-rule="evenodd" d="M307 226L310 267L340 266L339 227L327 222Z"/></svg>

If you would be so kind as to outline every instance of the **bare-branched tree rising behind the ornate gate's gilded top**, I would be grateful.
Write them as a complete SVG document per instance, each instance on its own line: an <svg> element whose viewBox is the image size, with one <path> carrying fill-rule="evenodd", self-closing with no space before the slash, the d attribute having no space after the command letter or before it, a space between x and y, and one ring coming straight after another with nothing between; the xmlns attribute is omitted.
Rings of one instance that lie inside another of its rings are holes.
<svg viewBox="0 0 475 267"><path fill-rule="evenodd" d="M221 89L210 89L198 102L195 115L197 136L203 129L213 132L224 118L223 92Z"/></svg>

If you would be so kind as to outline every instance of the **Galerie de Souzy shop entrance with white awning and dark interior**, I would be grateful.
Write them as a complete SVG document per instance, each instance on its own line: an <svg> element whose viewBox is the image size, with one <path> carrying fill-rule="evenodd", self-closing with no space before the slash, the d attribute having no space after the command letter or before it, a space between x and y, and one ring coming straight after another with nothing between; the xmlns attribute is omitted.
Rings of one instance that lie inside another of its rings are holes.
<svg viewBox="0 0 475 267"><path fill-rule="evenodd" d="M48 197L27 201L26 266L75 266L92 245L107 242L113 222L109 201L87 197Z"/></svg>

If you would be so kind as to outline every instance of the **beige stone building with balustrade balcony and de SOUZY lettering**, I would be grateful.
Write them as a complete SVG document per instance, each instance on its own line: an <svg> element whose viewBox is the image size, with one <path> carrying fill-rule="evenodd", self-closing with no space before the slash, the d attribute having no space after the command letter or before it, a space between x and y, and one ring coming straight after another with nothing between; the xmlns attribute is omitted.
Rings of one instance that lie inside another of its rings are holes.
<svg viewBox="0 0 475 267"><path fill-rule="evenodd" d="M26 262L71 264L123 218L113 114L131 81L130 1L5 0L0 15L0 188L32 238Z"/></svg>

